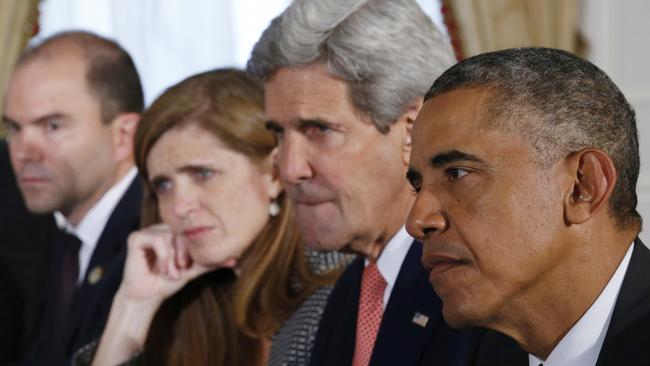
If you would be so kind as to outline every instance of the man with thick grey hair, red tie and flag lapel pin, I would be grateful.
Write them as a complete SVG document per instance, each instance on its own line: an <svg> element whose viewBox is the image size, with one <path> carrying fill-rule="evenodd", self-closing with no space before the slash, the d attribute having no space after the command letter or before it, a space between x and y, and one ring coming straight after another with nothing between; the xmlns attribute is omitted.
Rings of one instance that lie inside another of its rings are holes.
<svg viewBox="0 0 650 366"><path fill-rule="evenodd" d="M404 229L412 123L453 62L411 0L298 0L253 49L248 69L265 81L306 243L359 254L329 297L312 365L463 363L467 334L442 320L421 244Z"/></svg>

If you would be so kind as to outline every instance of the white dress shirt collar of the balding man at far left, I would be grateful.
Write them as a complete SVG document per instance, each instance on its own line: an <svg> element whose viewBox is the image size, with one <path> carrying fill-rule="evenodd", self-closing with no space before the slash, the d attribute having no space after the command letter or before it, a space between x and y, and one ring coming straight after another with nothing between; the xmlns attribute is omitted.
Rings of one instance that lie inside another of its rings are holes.
<svg viewBox="0 0 650 366"><path fill-rule="evenodd" d="M126 193L126 190L137 174L138 170L135 167L131 168L117 184L104 193L102 198L86 213L76 227L70 224L61 212L56 211L54 213L54 219L59 229L74 234L81 240L81 248L79 248L79 278L77 279L77 284L81 284L86 276L90 258L95 251L99 237L102 235L104 227L111 217L115 206L120 202L120 199Z"/></svg>

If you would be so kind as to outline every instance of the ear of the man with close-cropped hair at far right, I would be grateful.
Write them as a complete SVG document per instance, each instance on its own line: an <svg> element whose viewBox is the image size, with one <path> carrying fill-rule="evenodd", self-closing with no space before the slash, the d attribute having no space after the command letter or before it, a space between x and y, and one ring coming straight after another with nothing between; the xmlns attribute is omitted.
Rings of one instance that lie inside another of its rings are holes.
<svg viewBox="0 0 650 366"><path fill-rule="evenodd" d="M582 224L607 206L616 185L616 167L598 149L581 150L568 159L573 185L564 199L565 215L569 223Z"/></svg>

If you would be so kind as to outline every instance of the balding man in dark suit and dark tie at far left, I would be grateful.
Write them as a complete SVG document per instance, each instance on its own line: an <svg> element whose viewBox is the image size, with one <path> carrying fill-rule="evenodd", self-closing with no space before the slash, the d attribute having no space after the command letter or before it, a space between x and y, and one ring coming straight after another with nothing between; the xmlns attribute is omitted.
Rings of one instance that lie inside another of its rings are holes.
<svg viewBox="0 0 650 366"><path fill-rule="evenodd" d="M46 303L26 364L62 365L99 337L138 227L133 136L143 108L133 61L118 44L69 32L28 49L9 80L11 163L25 205L54 213Z"/></svg>

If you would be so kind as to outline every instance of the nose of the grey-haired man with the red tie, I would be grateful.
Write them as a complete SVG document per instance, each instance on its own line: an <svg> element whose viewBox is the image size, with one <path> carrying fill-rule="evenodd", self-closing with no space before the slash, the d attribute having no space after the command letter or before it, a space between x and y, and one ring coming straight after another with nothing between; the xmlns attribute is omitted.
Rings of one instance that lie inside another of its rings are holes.
<svg viewBox="0 0 650 366"><path fill-rule="evenodd" d="M285 184L299 184L313 176L308 149L300 136L287 132L279 145L278 166Z"/></svg>

